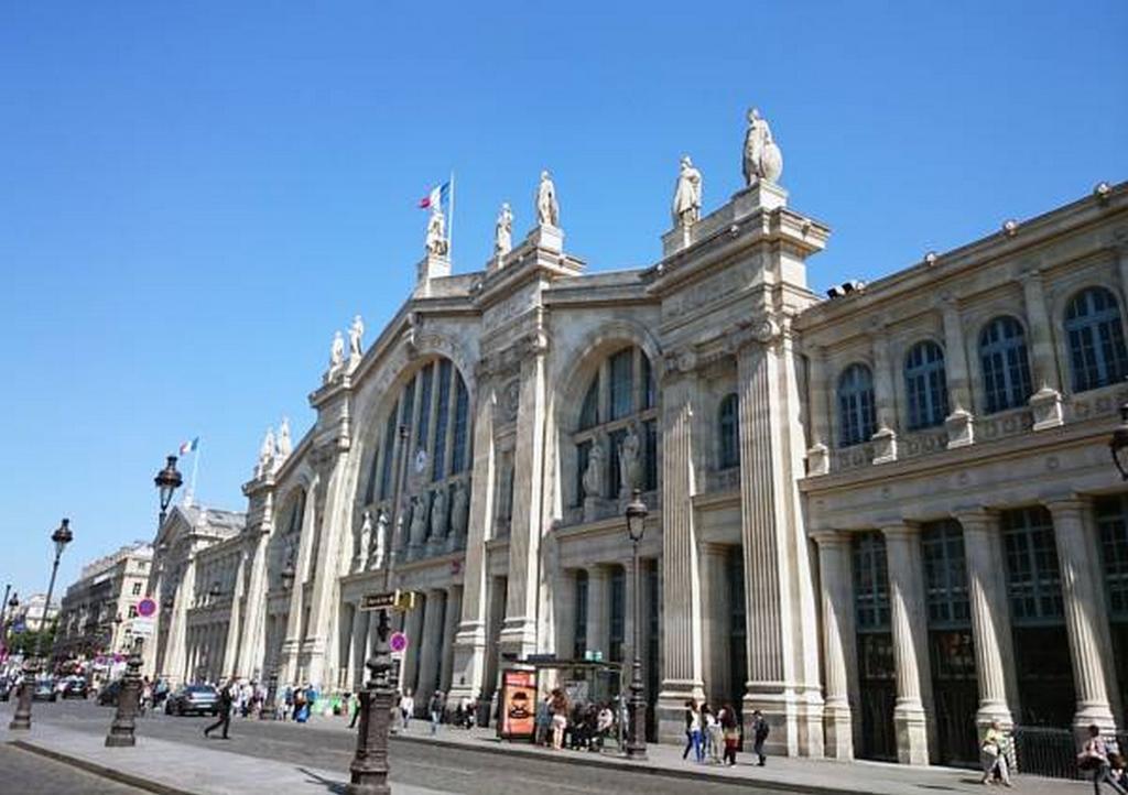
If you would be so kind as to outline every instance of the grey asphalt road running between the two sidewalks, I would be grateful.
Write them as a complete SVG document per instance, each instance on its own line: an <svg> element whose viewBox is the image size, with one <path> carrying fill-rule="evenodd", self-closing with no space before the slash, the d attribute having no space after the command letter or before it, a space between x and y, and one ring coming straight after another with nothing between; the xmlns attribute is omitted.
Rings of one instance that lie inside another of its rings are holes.
<svg viewBox="0 0 1128 795"><path fill-rule="evenodd" d="M113 719L113 709L98 707L92 701L36 703L34 721L58 723L72 731L105 734ZM7 717L7 716L3 716ZM356 737L338 728L319 728L314 724L262 722L235 718L228 741L204 739L203 727L210 717L169 717L151 714L139 719L138 732L161 740L208 747L230 753L280 760L292 765L347 771ZM423 727L422 722L420 727ZM716 781L690 781L653 774L608 770L602 767L571 765L553 760L506 757L485 751L429 747L418 742L393 740L391 780L417 787L466 793L467 795L546 795L548 793L592 793L608 795L619 792L645 792L647 795L684 795L691 789L695 795L755 793L777 795L782 790L755 787L748 784L730 785ZM159 763L159 760L155 760ZM0 772L8 760L0 757ZM85 774L83 774L85 775ZM109 783L107 783L109 786ZM118 785L113 785L118 786ZM20 788L14 792L130 792L116 789L41 789Z"/></svg>

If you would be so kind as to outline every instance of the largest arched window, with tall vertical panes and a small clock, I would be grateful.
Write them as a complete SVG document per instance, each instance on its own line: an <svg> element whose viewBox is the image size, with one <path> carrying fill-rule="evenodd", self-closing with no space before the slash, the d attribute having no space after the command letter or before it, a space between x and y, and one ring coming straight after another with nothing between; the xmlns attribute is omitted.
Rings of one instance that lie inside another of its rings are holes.
<svg viewBox="0 0 1128 795"><path fill-rule="evenodd" d="M469 503L469 423L466 382L458 368L442 357L424 362L388 410L374 445L364 504L391 515L397 462L409 452L404 462L402 544L413 520L416 532L422 529L425 533L428 550L446 551L465 540L456 536L465 533ZM408 430L409 451L400 449L399 425Z"/></svg>

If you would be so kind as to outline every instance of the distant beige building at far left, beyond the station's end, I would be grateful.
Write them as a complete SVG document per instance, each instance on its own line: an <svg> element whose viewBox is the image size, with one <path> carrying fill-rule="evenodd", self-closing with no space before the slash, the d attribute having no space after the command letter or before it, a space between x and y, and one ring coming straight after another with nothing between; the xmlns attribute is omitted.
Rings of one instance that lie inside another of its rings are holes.
<svg viewBox="0 0 1128 795"><path fill-rule="evenodd" d="M83 566L62 600L55 654L124 651L138 602L146 597L151 564L152 546L138 541Z"/></svg>

